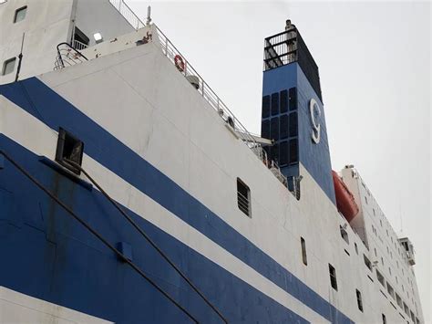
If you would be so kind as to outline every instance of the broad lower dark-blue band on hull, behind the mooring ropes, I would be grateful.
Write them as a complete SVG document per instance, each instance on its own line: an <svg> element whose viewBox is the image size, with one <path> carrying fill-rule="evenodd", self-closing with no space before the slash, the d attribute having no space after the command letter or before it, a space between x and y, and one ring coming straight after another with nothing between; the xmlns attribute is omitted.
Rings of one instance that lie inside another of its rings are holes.
<svg viewBox="0 0 432 324"><path fill-rule="evenodd" d="M127 241L134 262L201 323L221 322L101 193L70 181L4 135L0 148L111 244ZM117 323L190 323L9 162L0 170L0 210L0 286ZM129 214L230 323L308 323L137 214Z"/></svg>

